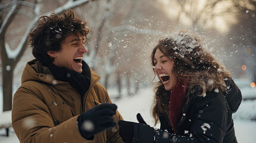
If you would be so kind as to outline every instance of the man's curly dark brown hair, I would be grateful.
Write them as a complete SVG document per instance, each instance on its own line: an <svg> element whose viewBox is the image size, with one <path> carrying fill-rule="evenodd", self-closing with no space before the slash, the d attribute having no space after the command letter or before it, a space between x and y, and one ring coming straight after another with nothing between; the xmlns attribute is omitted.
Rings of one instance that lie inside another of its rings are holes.
<svg viewBox="0 0 256 143"><path fill-rule="evenodd" d="M90 29L87 22L75 16L72 10L65 11L61 16L52 13L38 19L38 26L29 34L29 44L33 56L42 64L53 63L48 51L60 51L61 42L71 35L84 36L86 41Z"/></svg>

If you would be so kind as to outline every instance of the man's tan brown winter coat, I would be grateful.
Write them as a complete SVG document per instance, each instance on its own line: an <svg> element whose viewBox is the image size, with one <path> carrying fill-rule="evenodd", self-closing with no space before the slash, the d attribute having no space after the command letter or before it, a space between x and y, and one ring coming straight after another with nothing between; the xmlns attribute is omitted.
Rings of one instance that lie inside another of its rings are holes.
<svg viewBox="0 0 256 143"><path fill-rule="evenodd" d="M20 142L123 142L118 125L96 134L92 141L79 133L76 122L79 114L101 103L111 103L99 79L91 70L90 88L81 99L69 82L55 80L50 70L36 60L28 62L13 100L13 129ZM118 111L113 117L116 123L122 120Z"/></svg>

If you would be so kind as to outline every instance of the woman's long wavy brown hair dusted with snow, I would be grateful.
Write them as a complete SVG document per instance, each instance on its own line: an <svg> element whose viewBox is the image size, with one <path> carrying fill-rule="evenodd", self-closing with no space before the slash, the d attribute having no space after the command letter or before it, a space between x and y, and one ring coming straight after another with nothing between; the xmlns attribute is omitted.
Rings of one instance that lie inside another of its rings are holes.
<svg viewBox="0 0 256 143"><path fill-rule="evenodd" d="M159 40L151 55L153 67L155 66L153 59L156 49L175 61L172 72L178 77L177 79L183 79L187 82L185 95L187 101L190 91L195 86L202 88L202 93L199 96L205 94L206 91L212 91L214 88L218 88L220 92L224 91L226 86L224 79L230 76L229 71L202 47L201 40L194 33L181 31ZM155 84L152 115L156 125L159 122L160 114L168 115L169 113L170 91L165 90L161 80Z"/></svg>

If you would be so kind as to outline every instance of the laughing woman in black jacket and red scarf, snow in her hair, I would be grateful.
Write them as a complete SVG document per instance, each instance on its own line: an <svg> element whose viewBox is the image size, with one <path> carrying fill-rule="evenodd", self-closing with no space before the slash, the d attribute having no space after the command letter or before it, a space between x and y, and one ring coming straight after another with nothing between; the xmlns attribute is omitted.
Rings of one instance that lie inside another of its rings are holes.
<svg viewBox="0 0 256 143"><path fill-rule="evenodd" d="M224 69L202 47L198 36L181 31L161 39L152 52L159 78L153 117L160 129L119 121L125 142L237 142L232 113L242 95ZM132 126L133 125L133 126Z"/></svg>

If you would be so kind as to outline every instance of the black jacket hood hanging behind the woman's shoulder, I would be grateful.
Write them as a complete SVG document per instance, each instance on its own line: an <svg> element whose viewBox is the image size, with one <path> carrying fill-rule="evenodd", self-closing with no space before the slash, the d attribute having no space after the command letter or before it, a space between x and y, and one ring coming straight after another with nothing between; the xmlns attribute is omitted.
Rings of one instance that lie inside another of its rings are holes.
<svg viewBox="0 0 256 143"><path fill-rule="evenodd" d="M242 94L236 83L230 77L225 79L225 83L227 87L223 94L225 95L227 102L232 109L232 113L235 113L242 102Z"/></svg>

